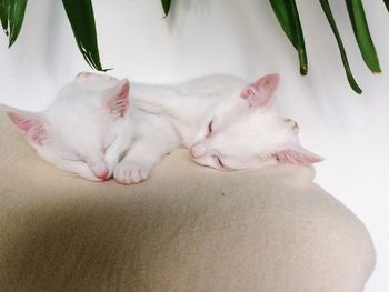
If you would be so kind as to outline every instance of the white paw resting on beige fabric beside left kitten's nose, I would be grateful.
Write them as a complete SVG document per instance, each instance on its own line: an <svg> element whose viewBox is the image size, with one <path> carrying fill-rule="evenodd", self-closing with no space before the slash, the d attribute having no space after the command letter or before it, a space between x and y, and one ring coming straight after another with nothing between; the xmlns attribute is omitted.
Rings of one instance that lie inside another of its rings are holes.
<svg viewBox="0 0 389 292"><path fill-rule="evenodd" d="M150 169L139 162L121 161L113 172L113 178L122 184L131 184L144 181Z"/></svg>

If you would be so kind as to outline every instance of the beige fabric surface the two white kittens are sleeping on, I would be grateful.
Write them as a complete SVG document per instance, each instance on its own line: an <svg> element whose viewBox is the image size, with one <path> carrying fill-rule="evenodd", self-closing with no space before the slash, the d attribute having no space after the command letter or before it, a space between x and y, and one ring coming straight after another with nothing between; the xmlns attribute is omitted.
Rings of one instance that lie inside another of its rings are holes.
<svg viewBox="0 0 389 292"><path fill-rule="evenodd" d="M0 114L0 291L362 291L363 224L313 170L226 173L178 150L147 182L41 161Z"/></svg>

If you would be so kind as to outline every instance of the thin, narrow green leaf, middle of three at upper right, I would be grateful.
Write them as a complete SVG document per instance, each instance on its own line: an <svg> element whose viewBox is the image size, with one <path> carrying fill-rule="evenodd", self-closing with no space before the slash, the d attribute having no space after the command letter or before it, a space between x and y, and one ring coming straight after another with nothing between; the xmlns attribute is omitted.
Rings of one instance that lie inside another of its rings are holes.
<svg viewBox="0 0 389 292"><path fill-rule="evenodd" d="M331 8L328 3L328 0L319 0L319 1L320 1L322 10L325 11L327 20L330 23L330 27L332 29L335 38L337 39L340 56L341 56L341 61L343 63L346 75L347 75L347 80L349 81L349 84L353 89L353 91L356 91L357 93L360 94L360 93L362 93L362 90L359 88L359 85L357 84L357 82L353 79L353 75L351 73L350 66L349 66L349 62L347 60L345 47L343 47L343 43L342 43L341 38L339 36L339 31L338 31L337 24L335 22L335 19L333 19L332 12L331 12Z"/></svg>

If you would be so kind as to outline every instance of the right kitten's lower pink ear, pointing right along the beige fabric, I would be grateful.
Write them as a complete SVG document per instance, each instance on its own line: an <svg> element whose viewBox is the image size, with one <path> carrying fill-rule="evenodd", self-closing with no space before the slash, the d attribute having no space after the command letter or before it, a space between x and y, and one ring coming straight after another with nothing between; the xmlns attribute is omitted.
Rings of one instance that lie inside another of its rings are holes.
<svg viewBox="0 0 389 292"><path fill-rule="evenodd" d="M279 163L288 164L311 164L322 161L323 159L302 147L290 147L271 154Z"/></svg>

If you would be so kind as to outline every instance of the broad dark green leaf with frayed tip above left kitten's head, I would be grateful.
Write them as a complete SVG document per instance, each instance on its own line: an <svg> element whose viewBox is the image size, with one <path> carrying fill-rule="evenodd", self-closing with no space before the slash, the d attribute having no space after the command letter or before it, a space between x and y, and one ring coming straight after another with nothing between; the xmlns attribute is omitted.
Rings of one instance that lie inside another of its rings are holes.
<svg viewBox="0 0 389 292"><path fill-rule="evenodd" d="M83 58L90 67L107 71L108 69L102 69L100 62L91 0L62 0L62 3Z"/></svg>

